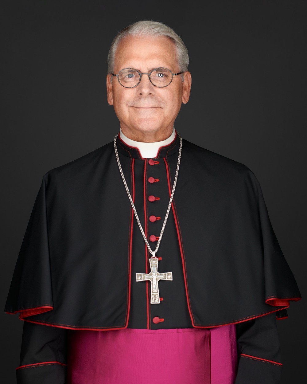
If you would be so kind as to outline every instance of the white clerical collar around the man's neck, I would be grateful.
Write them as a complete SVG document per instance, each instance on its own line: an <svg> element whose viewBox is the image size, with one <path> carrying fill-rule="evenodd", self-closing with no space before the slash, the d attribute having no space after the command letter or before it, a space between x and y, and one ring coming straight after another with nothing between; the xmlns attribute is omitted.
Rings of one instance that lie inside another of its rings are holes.
<svg viewBox="0 0 307 384"><path fill-rule="evenodd" d="M178 139L178 135L174 127L172 134L167 139L152 143L131 140L122 133L121 129L119 131L119 141L122 144L125 144L125 147L129 148L129 152L132 152L130 153L130 156L139 157L140 159L163 157L163 154L165 154L163 149L170 149L170 147L173 147L171 144L175 144L175 141L178 141L175 140L176 138ZM137 156L133 153L134 151L131 151L132 149L138 152Z"/></svg>

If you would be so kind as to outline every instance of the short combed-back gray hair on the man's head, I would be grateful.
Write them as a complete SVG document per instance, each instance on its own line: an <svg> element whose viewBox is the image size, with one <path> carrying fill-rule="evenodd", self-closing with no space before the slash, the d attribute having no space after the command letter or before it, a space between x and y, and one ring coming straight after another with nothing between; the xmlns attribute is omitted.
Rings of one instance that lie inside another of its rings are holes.
<svg viewBox="0 0 307 384"><path fill-rule="evenodd" d="M131 24L124 28L122 31L117 33L114 37L108 55L108 73L114 73L115 66L115 53L119 42L128 37L145 37L145 36L157 36L157 37L168 37L175 45L177 63L179 65L179 71L185 72L188 70L189 55L185 44L183 43L180 36L172 30L169 26L160 23L153 22L151 20L142 20Z"/></svg>

